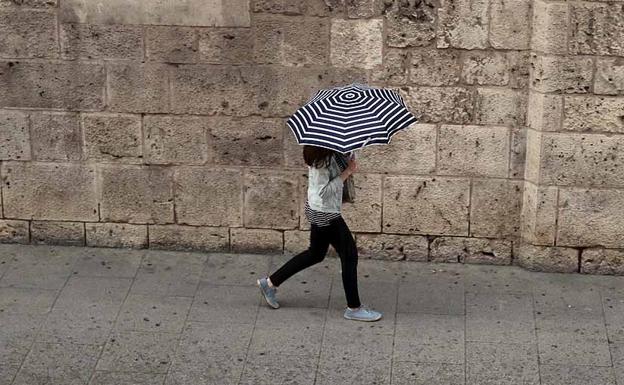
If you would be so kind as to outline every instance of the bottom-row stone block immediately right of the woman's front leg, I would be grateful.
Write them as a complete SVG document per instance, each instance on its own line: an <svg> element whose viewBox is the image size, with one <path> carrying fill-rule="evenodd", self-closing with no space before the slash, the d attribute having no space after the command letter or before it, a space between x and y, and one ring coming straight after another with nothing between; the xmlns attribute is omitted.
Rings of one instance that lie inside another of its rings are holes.
<svg viewBox="0 0 624 385"><path fill-rule="evenodd" d="M358 253L363 258L389 261L427 261L427 237L420 235L357 234Z"/></svg>

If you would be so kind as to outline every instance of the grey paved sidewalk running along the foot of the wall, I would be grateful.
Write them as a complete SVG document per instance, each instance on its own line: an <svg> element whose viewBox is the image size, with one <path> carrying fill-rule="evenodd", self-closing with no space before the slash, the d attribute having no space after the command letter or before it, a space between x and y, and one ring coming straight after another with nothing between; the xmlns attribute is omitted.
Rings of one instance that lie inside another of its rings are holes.
<svg viewBox="0 0 624 385"><path fill-rule="evenodd" d="M0 245L0 384L624 385L624 277L288 258Z"/></svg>

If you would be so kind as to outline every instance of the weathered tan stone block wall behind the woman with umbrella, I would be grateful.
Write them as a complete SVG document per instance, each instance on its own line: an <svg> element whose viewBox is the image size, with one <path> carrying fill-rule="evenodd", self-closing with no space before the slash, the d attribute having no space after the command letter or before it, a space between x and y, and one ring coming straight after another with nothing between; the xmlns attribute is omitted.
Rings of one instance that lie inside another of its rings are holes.
<svg viewBox="0 0 624 385"><path fill-rule="evenodd" d="M624 273L624 2L0 0L0 241L307 247L285 120L396 87L362 257Z"/></svg>

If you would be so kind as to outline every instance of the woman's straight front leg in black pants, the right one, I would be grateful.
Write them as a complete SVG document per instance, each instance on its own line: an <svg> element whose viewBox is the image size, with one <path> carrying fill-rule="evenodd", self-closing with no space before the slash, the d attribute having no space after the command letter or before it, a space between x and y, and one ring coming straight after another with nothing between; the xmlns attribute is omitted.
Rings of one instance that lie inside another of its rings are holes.
<svg viewBox="0 0 624 385"><path fill-rule="evenodd" d="M331 228L332 237L330 243L340 256L342 285L347 297L347 306L355 309L361 305L357 288L357 246L351 230L349 230L347 223L342 217L333 221Z"/></svg>

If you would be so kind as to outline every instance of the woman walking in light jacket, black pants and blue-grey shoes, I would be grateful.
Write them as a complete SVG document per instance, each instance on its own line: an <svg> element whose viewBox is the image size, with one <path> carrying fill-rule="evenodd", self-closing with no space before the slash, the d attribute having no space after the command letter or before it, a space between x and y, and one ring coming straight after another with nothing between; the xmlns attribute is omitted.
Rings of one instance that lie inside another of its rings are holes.
<svg viewBox="0 0 624 385"><path fill-rule="evenodd" d="M323 261L329 245L332 245L340 257L342 268L342 284L347 300L344 318L377 321L382 313L360 302L357 247L341 215L344 181L357 170L355 157L324 147L304 145L303 159L308 166L305 215L310 222L310 246L269 276L256 280L256 284L269 306L279 308L277 288L297 272Z"/></svg>

